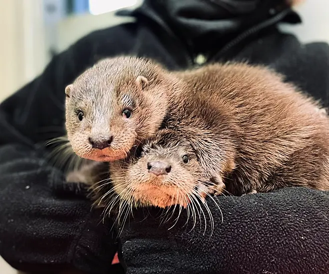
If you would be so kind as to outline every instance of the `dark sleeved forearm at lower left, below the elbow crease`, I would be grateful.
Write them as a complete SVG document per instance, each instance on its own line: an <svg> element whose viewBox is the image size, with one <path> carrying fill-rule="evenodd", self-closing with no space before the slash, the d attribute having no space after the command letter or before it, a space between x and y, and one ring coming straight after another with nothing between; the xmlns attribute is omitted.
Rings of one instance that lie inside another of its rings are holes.
<svg viewBox="0 0 329 274"><path fill-rule="evenodd" d="M0 256L25 272L121 273L111 266L111 220L43 159L23 145L0 147Z"/></svg>

